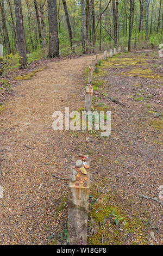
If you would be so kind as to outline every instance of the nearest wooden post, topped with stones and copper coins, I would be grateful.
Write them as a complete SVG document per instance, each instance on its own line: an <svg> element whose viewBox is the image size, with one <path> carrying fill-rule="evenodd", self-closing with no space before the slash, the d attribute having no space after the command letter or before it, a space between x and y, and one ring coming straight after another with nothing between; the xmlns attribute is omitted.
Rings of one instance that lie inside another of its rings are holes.
<svg viewBox="0 0 163 256"><path fill-rule="evenodd" d="M86 245L87 211L90 194L90 161L87 155L74 155L68 186L68 245Z"/></svg>

